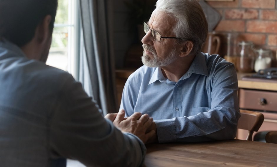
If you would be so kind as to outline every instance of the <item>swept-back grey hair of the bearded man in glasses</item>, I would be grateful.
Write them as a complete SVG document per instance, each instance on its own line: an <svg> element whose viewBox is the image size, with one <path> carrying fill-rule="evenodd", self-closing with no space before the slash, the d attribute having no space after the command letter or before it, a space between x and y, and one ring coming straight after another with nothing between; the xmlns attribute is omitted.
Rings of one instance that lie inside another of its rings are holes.
<svg viewBox="0 0 277 167"><path fill-rule="evenodd" d="M191 40L192 54L201 51L208 33L208 23L197 0L158 0L156 9L173 16L177 21L173 32L179 42Z"/></svg>

